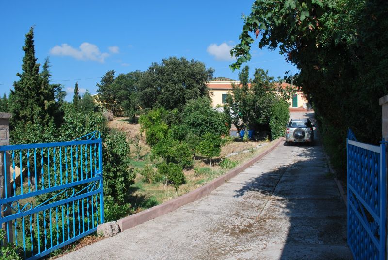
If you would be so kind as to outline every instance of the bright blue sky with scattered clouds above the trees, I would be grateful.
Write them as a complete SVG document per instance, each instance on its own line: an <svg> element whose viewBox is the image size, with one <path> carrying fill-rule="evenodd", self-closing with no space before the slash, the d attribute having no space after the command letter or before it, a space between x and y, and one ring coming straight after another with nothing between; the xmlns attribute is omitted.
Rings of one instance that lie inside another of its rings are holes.
<svg viewBox="0 0 388 260"><path fill-rule="evenodd" d="M253 0L218 1L1 1L0 93L9 93L18 80L24 37L35 26L39 63L49 56L52 80L71 92L78 81L81 92L96 92L96 82L108 70L116 75L146 70L170 56L202 61L214 76L238 79L228 50L238 43L242 13ZM297 72L277 50L253 46L248 63L283 77ZM74 80L78 79L78 80ZM69 94L67 100L71 99Z"/></svg>

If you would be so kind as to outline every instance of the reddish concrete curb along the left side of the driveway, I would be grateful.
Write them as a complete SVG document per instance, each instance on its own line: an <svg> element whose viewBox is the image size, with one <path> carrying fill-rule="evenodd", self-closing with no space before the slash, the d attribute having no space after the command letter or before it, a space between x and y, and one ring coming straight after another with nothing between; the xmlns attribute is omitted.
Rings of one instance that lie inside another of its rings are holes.
<svg viewBox="0 0 388 260"><path fill-rule="evenodd" d="M150 209L146 209L142 212L117 220L117 224L120 227L121 232L130 228L133 228L148 220L154 219L156 217L159 217L161 215L174 211L183 205L186 205L190 202L193 202L209 194L212 190L216 189L217 187L221 186L231 178L235 177L237 174L239 174L249 166L253 165L257 161L259 161L268 153L271 153L283 141L283 139L284 137L279 138L269 149L265 150L263 153L260 153L258 156L250 159L243 165L228 171L224 175L218 177L217 179L214 179L213 181L203 185L202 187L199 187L189 193L179 196L176 199L164 202L158 206L152 207Z"/></svg>

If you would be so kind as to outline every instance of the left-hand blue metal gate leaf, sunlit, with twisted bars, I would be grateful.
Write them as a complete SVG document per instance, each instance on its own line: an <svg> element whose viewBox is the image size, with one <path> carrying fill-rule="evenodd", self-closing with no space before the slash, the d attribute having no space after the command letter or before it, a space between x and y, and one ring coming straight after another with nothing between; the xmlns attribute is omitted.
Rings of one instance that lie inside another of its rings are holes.
<svg viewBox="0 0 388 260"><path fill-rule="evenodd" d="M8 190L0 224L24 258L47 255L104 222L97 131L69 142L0 146L0 156Z"/></svg>

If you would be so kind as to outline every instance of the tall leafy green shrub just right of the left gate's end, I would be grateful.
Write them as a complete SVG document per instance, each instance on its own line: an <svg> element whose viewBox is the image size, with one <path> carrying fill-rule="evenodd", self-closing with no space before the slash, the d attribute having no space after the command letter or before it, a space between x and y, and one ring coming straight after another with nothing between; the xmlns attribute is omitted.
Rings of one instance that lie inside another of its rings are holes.
<svg viewBox="0 0 388 260"><path fill-rule="evenodd" d="M125 133L112 130L104 138L103 162L104 196L124 204L127 189L135 179L133 168L129 168L129 143Z"/></svg>

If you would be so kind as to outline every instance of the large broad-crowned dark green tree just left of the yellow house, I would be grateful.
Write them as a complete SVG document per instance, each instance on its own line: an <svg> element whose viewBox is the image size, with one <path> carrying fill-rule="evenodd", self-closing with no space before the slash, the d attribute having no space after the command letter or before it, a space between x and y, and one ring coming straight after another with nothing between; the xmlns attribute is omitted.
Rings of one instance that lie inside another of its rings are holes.
<svg viewBox="0 0 388 260"><path fill-rule="evenodd" d="M140 106L181 110L189 100L209 95L206 82L212 75L213 69L204 63L183 57L152 63L139 82Z"/></svg>

